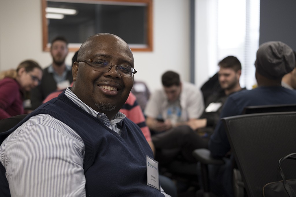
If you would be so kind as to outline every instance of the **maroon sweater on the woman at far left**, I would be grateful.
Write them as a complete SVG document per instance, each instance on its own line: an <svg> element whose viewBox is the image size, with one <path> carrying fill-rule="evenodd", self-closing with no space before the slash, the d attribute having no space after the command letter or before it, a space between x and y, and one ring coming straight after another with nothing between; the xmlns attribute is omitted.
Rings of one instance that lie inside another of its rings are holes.
<svg viewBox="0 0 296 197"><path fill-rule="evenodd" d="M24 113L23 93L15 79L0 80L0 120Z"/></svg>

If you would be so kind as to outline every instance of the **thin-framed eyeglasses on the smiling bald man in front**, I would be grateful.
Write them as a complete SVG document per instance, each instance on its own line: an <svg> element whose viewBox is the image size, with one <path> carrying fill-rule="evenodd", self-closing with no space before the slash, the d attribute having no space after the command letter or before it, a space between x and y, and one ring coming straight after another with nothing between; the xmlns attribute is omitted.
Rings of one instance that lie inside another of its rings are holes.
<svg viewBox="0 0 296 197"><path fill-rule="evenodd" d="M112 66L116 66L116 71L119 75L125 76L125 77L132 77L134 74L137 73L137 71L131 67L131 66L124 66L124 65L114 65L109 61L105 61L102 59L89 59L89 60L83 60L83 61L77 61L79 62L91 62L91 66L94 71L101 71L101 72L108 72L110 71Z"/></svg>

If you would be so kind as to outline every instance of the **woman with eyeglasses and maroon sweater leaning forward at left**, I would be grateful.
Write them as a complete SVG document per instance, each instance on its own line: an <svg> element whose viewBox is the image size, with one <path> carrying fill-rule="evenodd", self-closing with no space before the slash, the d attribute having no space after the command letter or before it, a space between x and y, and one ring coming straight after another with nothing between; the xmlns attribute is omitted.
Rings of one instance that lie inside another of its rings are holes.
<svg viewBox="0 0 296 197"><path fill-rule="evenodd" d="M24 95L38 86L41 78L42 68L33 60L0 73L0 120L24 113Z"/></svg>

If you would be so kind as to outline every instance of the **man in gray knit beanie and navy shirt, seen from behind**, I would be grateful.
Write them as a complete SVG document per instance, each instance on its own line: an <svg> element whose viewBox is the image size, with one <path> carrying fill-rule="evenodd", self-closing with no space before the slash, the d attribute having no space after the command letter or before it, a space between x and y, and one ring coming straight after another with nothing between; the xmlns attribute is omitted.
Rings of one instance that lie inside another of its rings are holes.
<svg viewBox="0 0 296 197"><path fill-rule="evenodd" d="M258 87L239 91L228 97L221 118L240 115L246 106L296 103L296 91L281 86L282 77L295 67L293 50L280 41L260 45L255 61ZM208 144L211 155L222 158L230 151L225 128L220 120ZM223 166L209 166L210 184L216 195L234 196L231 159Z"/></svg>

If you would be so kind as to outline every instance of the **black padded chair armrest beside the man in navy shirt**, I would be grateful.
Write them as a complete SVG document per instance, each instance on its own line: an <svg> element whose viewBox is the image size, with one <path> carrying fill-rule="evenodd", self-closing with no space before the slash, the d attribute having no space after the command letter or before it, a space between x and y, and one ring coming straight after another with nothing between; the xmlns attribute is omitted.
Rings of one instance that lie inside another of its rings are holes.
<svg viewBox="0 0 296 197"><path fill-rule="evenodd" d="M214 164L214 165L223 165L225 162L223 159L214 159L211 156L211 152L208 149L195 149L192 152L193 157L200 161L202 164Z"/></svg>

